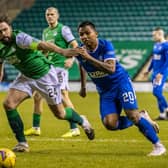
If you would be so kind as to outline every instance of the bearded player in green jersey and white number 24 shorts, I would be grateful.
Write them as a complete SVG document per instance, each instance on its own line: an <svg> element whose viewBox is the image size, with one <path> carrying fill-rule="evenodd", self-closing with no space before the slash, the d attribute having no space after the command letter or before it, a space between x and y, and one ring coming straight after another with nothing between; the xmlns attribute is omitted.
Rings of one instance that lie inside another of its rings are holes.
<svg viewBox="0 0 168 168"><path fill-rule="evenodd" d="M74 49L62 49L49 42L40 41L30 35L12 30L7 16L0 16L0 72L2 64L7 62L18 69L21 74L10 86L3 106L15 134L18 144L15 152L28 152L29 145L24 135L24 125L17 107L38 91L47 101L52 113L59 119L73 121L84 129L90 140L94 139L94 130L84 116L72 108L65 109L62 104L61 89L56 69L41 51L56 52L67 57L77 55ZM41 51L39 51L41 50ZM0 73L2 74L2 73Z"/></svg>

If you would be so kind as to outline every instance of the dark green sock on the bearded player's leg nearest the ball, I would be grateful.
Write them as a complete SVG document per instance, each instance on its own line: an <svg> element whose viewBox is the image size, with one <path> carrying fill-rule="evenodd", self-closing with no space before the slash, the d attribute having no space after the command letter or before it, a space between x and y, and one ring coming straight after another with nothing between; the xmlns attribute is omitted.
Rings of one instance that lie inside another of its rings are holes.
<svg viewBox="0 0 168 168"><path fill-rule="evenodd" d="M10 124L10 127L15 134L16 139L18 142L26 142L26 138L24 136L24 126L22 119L20 118L19 113L16 109L7 110L6 115Z"/></svg>

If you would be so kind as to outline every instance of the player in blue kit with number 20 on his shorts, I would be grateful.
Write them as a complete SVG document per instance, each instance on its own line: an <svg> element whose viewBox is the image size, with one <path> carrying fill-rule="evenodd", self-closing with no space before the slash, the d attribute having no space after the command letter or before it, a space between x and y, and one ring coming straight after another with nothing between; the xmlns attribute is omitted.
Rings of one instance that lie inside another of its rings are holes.
<svg viewBox="0 0 168 168"><path fill-rule="evenodd" d="M78 33L82 44L75 49L79 53L76 58L83 68L81 72L86 71L96 85L104 126L114 131L135 125L154 146L148 155L164 154L166 148L156 134L158 132L157 123L151 120L147 111L138 111L130 77L117 61L112 43L98 38L95 25L90 21L81 22L78 26ZM84 97L86 96L86 81L82 79L81 81L80 94ZM120 116L122 109L126 116Z"/></svg>

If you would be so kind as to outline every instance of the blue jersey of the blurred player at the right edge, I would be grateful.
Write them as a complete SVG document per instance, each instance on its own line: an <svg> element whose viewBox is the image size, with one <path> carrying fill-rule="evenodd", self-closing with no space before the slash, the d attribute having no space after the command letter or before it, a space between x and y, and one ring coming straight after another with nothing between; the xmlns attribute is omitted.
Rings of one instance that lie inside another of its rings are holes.
<svg viewBox="0 0 168 168"><path fill-rule="evenodd" d="M152 62L148 71L153 70L153 78L156 74L168 74L168 42L156 43L153 47Z"/></svg>

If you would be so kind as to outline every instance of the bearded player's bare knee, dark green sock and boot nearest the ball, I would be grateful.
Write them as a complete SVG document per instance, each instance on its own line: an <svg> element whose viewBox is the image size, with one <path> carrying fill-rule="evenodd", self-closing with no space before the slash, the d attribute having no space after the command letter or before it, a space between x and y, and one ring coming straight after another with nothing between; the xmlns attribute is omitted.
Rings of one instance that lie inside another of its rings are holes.
<svg viewBox="0 0 168 168"><path fill-rule="evenodd" d="M13 148L15 152L29 151L29 146L23 133L23 122L16 109L17 106L28 96L29 95L26 92L11 88L9 89L7 98L3 103L8 122L18 141L18 144Z"/></svg>

